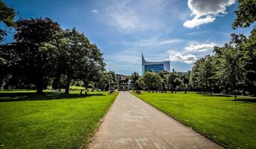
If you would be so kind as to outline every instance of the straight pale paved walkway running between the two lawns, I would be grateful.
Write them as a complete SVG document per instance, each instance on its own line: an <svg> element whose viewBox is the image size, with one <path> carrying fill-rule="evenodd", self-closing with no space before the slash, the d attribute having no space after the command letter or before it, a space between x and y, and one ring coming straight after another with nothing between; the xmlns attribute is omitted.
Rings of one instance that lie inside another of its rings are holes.
<svg viewBox="0 0 256 149"><path fill-rule="evenodd" d="M221 148L170 116L120 91L89 148Z"/></svg>

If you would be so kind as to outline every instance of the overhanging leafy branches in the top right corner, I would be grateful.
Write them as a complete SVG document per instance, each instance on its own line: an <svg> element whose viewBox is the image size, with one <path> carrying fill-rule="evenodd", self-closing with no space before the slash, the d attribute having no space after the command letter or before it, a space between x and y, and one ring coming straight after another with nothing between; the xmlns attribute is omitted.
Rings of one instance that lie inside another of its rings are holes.
<svg viewBox="0 0 256 149"><path fill-rule="evenodd" d="M256 1L255 0L238 0L238 9L236 13L236 20L234 20L232 27L249 27L256 21Z"/></svg>

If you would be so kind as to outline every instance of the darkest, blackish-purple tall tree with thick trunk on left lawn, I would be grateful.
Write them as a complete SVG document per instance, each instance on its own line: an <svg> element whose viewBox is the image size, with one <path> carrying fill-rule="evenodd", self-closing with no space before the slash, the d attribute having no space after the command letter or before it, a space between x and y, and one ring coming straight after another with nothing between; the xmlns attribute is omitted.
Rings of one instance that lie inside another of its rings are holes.
<svg viewBox="0 0 256 149"><path fill-rule="evenodd" d="M27 80L35 84L37 93L43 93L43 86L48 83L54 66L54 51L41 48L46 42L52 41L60 25L50 18L19 19L16 22L14 43L16 46L17 69Z"/></svg>

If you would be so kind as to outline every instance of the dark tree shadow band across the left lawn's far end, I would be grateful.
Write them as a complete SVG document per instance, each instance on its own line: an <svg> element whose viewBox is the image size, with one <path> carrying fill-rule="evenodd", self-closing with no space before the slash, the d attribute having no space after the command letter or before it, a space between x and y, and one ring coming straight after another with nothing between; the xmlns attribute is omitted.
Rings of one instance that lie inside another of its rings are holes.
<svg viewBox="0 0 256 149"><path fill-rule="evenodd" d="M88 93L80 95L79 93L64 94L60 92L37 93L0 93L0 102L9 101L45 101L54 99L75 99L90 96L105 96L103 93Z"/></svg>

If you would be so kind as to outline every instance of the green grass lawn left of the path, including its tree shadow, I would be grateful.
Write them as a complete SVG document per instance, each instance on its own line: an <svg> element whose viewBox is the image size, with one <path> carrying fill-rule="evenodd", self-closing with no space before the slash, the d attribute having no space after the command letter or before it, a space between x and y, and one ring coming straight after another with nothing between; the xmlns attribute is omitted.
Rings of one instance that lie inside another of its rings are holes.
<svg viewBox="0 0 256 149"><path fill-rule="evenodd" d="M88 144L115 97L107 92L64 95L0 91L0 146L3 148L79 148Z"/></svg>

